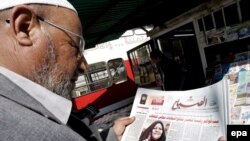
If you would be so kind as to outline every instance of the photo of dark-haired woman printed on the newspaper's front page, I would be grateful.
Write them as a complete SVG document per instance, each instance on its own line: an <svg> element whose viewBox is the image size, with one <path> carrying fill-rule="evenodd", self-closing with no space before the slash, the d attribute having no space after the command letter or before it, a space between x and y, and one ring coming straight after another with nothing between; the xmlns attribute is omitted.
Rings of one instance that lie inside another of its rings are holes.
<svg viewBox="0 0 250 141"><path fill-rule="evenodd" d="M165 129L161 121L154 121L142 131L139 141L165 141Z"/></svg>

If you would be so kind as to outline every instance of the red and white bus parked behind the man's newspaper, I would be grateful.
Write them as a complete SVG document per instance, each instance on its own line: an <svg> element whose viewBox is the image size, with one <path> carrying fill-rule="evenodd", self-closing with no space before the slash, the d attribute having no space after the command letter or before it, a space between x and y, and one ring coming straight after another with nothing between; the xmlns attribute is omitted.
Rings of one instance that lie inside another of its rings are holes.
<svg viewBox="0 0 250 141"><path fill-rule="evenodd" d="M72 94L75 110L93 105L100 111L97 116L101 116L133 102L137 85L127 51L148 41L149 37L145 33L124 35L85 51L89 68L76 82Z"/></svg>

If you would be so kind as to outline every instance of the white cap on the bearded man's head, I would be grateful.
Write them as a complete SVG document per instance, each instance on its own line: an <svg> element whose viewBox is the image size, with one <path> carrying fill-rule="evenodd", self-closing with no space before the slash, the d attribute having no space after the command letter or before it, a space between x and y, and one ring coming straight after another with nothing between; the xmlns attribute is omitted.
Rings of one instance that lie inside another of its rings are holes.
<svg viewBox="0 0 250 141"><path fill-rule="evenodd" d="M71 5L67 0L1 0L0 10L11 8L21 4L47 4L61 6L68 9L71 9L75 12L76 9Z"/></svg>

